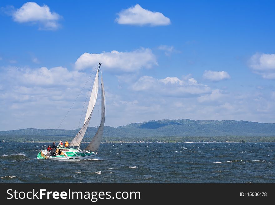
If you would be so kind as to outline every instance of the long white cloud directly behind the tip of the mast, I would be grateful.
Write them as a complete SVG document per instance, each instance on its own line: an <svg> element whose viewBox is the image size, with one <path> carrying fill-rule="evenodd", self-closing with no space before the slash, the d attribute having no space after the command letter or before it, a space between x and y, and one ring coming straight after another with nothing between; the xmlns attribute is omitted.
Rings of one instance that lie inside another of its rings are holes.
<svg viewBox="0 0 275 205"><path fill-rule="evenodd" d="M82 70L87 67L95 67L99 62L107 69L116 71L133 72L142 67L151 68L153 65L158 65L156 56L149 48L142 48L132 52L103 52L84 53L75 62L75 68Z"/></svg>

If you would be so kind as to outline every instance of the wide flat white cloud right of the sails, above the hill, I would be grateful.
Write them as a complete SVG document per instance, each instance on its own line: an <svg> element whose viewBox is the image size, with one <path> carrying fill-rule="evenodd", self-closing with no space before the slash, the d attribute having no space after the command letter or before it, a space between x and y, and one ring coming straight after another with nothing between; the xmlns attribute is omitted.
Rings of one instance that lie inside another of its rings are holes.
<svg viewBox="0 0 275 205"><path fill-rule="evenodd" d="M132 86L136 91L148 91L168 96L189 96L209 93L211 89L207 85L199 84L194 78L180 80L177 77L155 79L152 76L142 76Z"/></svg>

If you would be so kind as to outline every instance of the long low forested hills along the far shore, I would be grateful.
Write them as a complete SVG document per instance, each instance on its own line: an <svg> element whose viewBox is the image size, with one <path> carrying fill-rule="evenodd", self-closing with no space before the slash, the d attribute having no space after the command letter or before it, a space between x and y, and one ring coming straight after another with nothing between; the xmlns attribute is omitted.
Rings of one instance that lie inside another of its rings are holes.
<svg viewBox="0 0 275 205"><path fill-rule="evenodd" d="M89 127L87 137L95 134L97 128ZM0 131L0 136L35 135L64 136L71 138L78 129L17 129ZM213 136L275 136L275 124L236 120L151 120L117 128L105 126L104 137L213 137Z"/></svg>

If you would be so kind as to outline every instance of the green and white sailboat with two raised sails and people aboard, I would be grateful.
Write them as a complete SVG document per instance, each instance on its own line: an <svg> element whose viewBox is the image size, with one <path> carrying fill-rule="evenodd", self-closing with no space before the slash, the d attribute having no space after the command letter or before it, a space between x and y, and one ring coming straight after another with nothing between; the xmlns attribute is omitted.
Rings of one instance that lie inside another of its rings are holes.
<svg viewBox="0 0 275 205"><path fill-rule="evenodd" d="M41 151L37 154L37 159L53 159L58 161L80 161L94 157L98 154L98 148L103 138L103 129L105 123L105 92L103 85L103 78L101 76L101 123L98 127L96 134L94 135L91 142L85 149L80 149L81 142L89 126L92 113L97 101L98 90L99 90L99 70L101 74L101 63L98 64L95 80L93 83L93 89L89 100L84 124L76 136L73 138L68 147L58 147L55 153L49 153L45 146L42 147Z"/></svg>

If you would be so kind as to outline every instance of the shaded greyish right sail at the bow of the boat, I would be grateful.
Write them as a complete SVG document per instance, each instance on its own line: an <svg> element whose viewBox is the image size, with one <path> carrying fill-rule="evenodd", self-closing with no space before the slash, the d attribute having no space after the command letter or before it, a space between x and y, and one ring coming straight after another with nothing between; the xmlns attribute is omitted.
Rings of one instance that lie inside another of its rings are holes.
<svg viewBox="0 0 275 205"><path fill-rule="evenodd" d="M103 85L103 78L101 76L101 123L99 125L98 131L93 137L92 141L88 144L88 146L85 148L85 150L90 151L97 151L101 140L103 138L103 129L104 129L104 123L105 123L105 91L104 91L104 85Z"/></svg>

